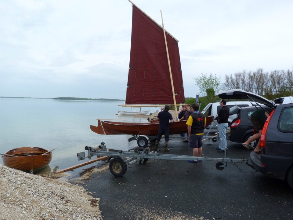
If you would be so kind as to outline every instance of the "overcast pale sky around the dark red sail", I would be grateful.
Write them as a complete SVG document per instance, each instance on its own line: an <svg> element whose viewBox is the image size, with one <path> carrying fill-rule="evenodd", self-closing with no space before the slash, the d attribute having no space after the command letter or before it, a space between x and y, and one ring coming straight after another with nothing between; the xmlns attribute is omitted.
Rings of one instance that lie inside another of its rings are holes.
<svg viewBox="0 0 293 220"><path fill-rule="evenodd" d="M133 0L179 40L186 97L194 77L293 69L292 0ZM125 99L128 0L0 0L0 96Z"/></svg>

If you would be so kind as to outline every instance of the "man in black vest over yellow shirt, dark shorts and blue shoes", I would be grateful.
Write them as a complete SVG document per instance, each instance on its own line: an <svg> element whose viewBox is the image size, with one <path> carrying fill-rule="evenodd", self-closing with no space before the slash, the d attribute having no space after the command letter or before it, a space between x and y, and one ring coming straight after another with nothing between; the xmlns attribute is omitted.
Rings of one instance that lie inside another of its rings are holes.
<svg viewBox="0 0 293 220"><path fill-rule="evenodd" d="M193 113L189 116L186 124L188 130L189 147L193 148L193 156L201 157L202 153L202 135L206 125L206 119L203 113L199 112L199 105L192 104ZM201 160L200 160L201 161ZM197 163L197 160L188 160L190 163Z"/></svg>

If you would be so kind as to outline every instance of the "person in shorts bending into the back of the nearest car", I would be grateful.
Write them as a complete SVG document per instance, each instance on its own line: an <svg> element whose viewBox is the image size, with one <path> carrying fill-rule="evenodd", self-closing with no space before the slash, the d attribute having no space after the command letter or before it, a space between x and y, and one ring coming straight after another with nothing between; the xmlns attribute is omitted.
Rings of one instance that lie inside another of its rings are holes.
<svg viewBox="0 0 293 220"><path fill-rule="evenodd" d="M251 123L253 124L253 127L255 129L255 134L252 135L247 141L245 141L244 143L242 143L242 145L244 146L245 149L249 150L249 144L260 138L261 134L262 134L262 128L266 122L267 117L269 116L269 113L272 112L271 108L260 108L256 111L254 111L251 116L250 116L250 120ZM260 147L260 141L257 143L254 152L256 153L260 153L262 152L262 149Z"/></svg>

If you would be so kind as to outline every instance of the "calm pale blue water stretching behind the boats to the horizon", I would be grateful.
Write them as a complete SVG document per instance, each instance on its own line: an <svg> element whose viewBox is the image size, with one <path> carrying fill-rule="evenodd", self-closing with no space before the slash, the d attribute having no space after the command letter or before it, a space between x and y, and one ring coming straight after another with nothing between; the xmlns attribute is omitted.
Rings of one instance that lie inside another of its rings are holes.
<svg viewBox="0 0 293 220"><path fill-rule="evenodd" d="M97 147L102 141L107 148L131 149L137 146L136 141L128 142L131 135L99 135L89 127L97 126L98 118L147 122L146 118L116 115L118 110L132 111L132 108L118 106L122 104L117 101L0 98L0 153L25 146L47 150L58 147L49 164L53 170L56 166L63 169L88 161L78 161L77 153L85 151L85 146ZM145 107L142 111L158 109Z"/></svg>

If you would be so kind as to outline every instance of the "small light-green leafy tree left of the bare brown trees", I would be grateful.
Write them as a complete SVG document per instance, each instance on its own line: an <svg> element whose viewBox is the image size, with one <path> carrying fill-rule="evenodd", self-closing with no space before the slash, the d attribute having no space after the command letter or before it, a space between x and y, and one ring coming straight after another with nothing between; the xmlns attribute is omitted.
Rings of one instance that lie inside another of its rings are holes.
<svg viewBox="0 0 293 220"><path fill-rule="evenodd" d="M215 93L219 91L221 78L213 76L212 73L195 77L195 84L199 87L199 94L201 96L207 96L208 100L212 100L215 97Z"/></svg>

